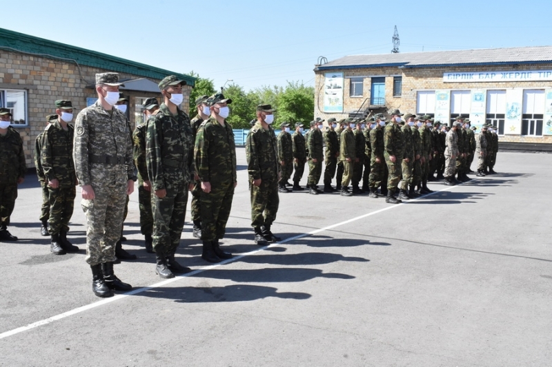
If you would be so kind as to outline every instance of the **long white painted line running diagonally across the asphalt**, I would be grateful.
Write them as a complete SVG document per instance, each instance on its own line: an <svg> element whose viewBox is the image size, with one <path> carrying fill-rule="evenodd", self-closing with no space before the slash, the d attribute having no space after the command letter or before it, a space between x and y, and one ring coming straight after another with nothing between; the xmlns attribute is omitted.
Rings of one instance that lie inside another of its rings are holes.
<svg viewBox="0 0 552 367"><path fill-rule="evenodd" d="M449 189L453 189L455 187L458 187L458 186L449 186L449 187L445 187L444 189L442 190L438 190L438 191L433 191L432 193L428 193L424 196L421 196L420 198L415 198L415 199L411 199L411 200L408 200L410 202L412 201L415 201L415 200L420 200L422 198L427 198L428 196L432 196L432 195L435 195L435 193L439 193L439 192L442 192L442 191L447 191ZM382 198L383 199L383 198ZM253 255L255 253L258 253L260 251L264 251L266 249L268 249L269 247L273 247L273 246L277 246L278 244L284 244L284 243L287 243L287 242L292 242L294 240L299 240L299 238L304 238L304 237L307 237L309 235L315 235L316 233L320 233L320 232L324 232L324 231L328 231L328 229L334 229L335 227L339 227L339 226L342 226L344 224L349 224L351 222L355 222L357 220L361 220L361 219L364 219L364 218L367 218L369 216L374 216L375 214L379 214L379 213L382 213L384 211L387 211L387 210L391 210L393 208L397 208L397 207L400 207L401 205L404 205L404 204L408 204L408 202L403 202L402 204L397 204L397 205L390 205L388 207L385 207L384 209L379 209L379 210L376 210L376 211L372 211L370 213L366 213L362 216L358 216L356 218L352 218L352 219L349 219L349 220L345 220L344 222L339 222L339 223L336 223L336 224L332 224L331 226L328 226L328 227L324 227L324 228L321 228L321 229L315 229L313 231L310 231L308 233L303 233L303 234L300 234L300 235L296 235L294 237L290 237L290 238L285 238L284 240L280 241L280 242L276 242L276 243L273 243L273 244L269 244L268 246L264 246L264 247L259 247L259 249L257 250L254 250L254 251L250 251L248 253L243 253L242 255L237 255L237 256L234 256L233 258L231 259L228 259L228 260L224 260L224 261L221 261L217 264L213 264L213 265L210 265L210 266L204 266L203 268L201 269L197 269L195 271L191 271L190 273L186 273L184 275L177 275L173 278L170 278L170 279L167 279L167 280L164 280L162 282L159 282L159 283L155 283L155 284L152 284L150 286L145 286L145 287L142 287L142 288L139 288L139 289L135 289L133 291L130 291L130 292L127 292L127 293L124 293L124 294L121 294L121 295L114 295L113 297L109 297L109 298L106 298L106 299L103 299L101 301L98 301L98 302L94 302L92 304L87 304L86 306L81 306L81 307L77 307L77 308L73 308L72 310L70 311L67 311L67 312L64 312L64 313L60 313L59 315L55 315L55 316L52 316L52 317L48 317L47 319L42 319L40 321L37 321L37 322L33 322L32 324L28 324L27 326L21 326L20 328L14 328L10 331L5 331L4 333L1 333L0 334L0 339L4 339L6 337L11 337L12 335L16 335L16 334L19 334L19 333L23 333L23 331L28 331L28 330L31 330L33 328L37 328L39 326L43 326L43 325L47 325L47 324L50 324L52 322L55 322L57 320L60 320L60 319L64 319L66 317L69 317L69 316L72 316L72 315L77 315L77 313L81 313L81 312L84 312L84 311L88 311L92 308L96 308L96 307L99 307L99 306L103 306L104 304L108 304L108 303L111 303L111 302L115 302L115 301L118 301L118 300L122 300L123 298L125 297L128 297L129 295L135 295L135 294L138 294L138 293L143 293L143 292L146 292L146 291L150 291L151 289L155 289L155 288L159 288L161 286L165 286L167 284L170 284L172 282L176 282L177 280L181 280L182 278L185 278L185 277L191 277L193 275L196 275L196 274L199 274L199 273L202 273L204 271L208 271L210 269L214 269L216 268L217 266L221 266L221 265L224 265L224 264L228 264L228 262L234 262L236 260L239 260L241 258L244 258L246 256L250 256L250 255Z"/></svg>

